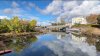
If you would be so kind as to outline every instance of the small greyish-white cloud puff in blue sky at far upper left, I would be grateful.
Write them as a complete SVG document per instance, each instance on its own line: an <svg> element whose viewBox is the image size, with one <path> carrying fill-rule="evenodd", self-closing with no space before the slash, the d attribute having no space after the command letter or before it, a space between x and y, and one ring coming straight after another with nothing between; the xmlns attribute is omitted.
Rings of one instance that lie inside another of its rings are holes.
<svg viewBox="0 0 100 56"><path fill-rule="evenodd" d="M21 8L19 8L19 4L15 1L12 2L12 8L5 8L2 10L2 12L4 14L9 14L9 15L12 15L12 16L19 16L21 15L21 12L23 11Z"/></svg>

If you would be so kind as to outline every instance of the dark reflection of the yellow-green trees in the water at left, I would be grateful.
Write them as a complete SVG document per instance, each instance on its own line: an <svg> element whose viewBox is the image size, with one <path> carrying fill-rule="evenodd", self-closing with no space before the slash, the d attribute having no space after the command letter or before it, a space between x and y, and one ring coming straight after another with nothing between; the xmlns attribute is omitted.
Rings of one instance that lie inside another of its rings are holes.
<svg viewBox="0 0 100 56"><path fill-rule="evenodd" d="M13 49L17 52L29 46L29 44L37 41L36 36L10 37L6 39L8 40L2 40L3 43L6 45L6 49ZM5 48L2 48L2 49L5 49Z"/></svg>

